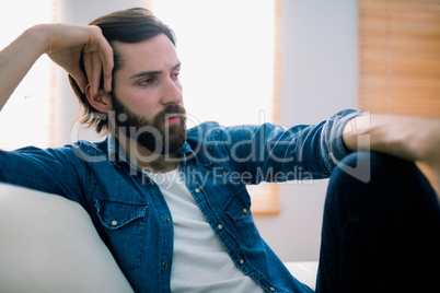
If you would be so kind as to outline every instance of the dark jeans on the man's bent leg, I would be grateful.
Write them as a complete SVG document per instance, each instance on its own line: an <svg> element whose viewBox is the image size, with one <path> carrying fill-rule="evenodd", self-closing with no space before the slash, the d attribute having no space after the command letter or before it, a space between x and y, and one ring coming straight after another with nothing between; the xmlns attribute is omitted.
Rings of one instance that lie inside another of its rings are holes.
<svg viewBox="0 0 440 293"><path fill-rule="evenodd" d="M316 292L440 292L439 278L440 206L425 176L385 154L345 157L329 180Z"/></svg>

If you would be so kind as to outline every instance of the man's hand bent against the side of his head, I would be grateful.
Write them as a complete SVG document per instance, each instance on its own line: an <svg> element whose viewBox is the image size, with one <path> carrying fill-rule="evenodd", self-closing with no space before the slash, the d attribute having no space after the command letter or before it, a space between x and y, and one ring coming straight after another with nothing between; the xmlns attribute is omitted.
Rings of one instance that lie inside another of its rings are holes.
<svg viewBox="0 0 440 293"><path fill-rule="evenodd" d="M104 90L112 91L113 49L95 25L44 24L47 36L46 54L62 67L78 83L82 92L90 85L93 95L99 93L101 74ZM80 69L83 55L85 74Z"/></svg>

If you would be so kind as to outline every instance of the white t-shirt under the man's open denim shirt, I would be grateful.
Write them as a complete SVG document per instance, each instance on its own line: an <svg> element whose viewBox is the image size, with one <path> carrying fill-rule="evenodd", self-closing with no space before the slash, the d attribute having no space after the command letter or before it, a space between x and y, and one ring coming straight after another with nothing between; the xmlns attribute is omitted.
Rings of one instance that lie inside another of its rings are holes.
<svg viewBox="0 0 440 293"><path fill-rule="evenodd" d="M173 216L172 292L264 292L232 262L186 187L182 167L148 175L160 187Z"/></svg>

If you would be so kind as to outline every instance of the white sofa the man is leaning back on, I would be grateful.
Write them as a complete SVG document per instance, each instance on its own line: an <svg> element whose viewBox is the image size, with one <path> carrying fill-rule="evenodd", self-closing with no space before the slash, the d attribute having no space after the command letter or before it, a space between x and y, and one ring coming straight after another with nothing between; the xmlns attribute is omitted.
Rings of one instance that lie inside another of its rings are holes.
<svg viewBox="0 0 440 293"><path fill-rule="evenodd" d="M85 210L0 184L0 292L132 292ZM287 262L312 289L316 262Z"/></svg>

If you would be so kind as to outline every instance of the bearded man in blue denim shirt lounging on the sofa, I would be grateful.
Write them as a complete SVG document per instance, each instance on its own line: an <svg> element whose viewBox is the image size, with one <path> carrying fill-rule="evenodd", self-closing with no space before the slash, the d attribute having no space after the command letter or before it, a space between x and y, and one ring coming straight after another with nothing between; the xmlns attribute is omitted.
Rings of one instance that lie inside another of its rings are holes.
<svg viewBox="0 0 440 293"><path fill-rule="evenodd" d="M298 167L314 178L332 175L319 292L433 289L437 268L404 265L440 260L439 204L409 162L439 169L438 120L344 110L288 130L186 130L172 31L143 9L92 24L24 32L0 54L0 101L47 54L69 72L84 121L107 139L1 152L0 178L81 203L137 292L312 292L258 235L245 190L296 179ZM369 143L359 144L361 137ZM407 161L348 154L363 148Z"/></svg>

